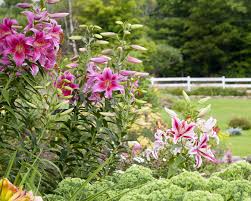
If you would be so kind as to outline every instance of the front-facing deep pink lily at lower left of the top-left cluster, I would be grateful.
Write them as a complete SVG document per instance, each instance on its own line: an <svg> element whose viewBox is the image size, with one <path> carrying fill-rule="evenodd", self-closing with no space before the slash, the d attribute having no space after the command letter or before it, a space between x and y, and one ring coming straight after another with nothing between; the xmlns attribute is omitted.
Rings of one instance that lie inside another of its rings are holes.
<svg viewBox="0 0 251 201"><path fill-rule="evenodd" d="M8 44L6 53L13 55L13 60L17 66L21 66L24 63L26 55L30 53L29 40L30 38L26 38L23 34L13 34L6 38Z"/></svg>

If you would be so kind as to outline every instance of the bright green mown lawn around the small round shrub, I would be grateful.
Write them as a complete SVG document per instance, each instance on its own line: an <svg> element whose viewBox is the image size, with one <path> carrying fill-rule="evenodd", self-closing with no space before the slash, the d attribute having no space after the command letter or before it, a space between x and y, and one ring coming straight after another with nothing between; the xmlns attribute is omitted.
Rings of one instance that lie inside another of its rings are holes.
<svg viewBox="0 0 251 201"><path fill-rule="evenodd" d="M251 121L251 99L212 99L212 116L218 120L221 129L226 130L233 117L245 117ZM243 131L241 136L231 136L226 140L234 155L251 155L251 130Z"/></svg>

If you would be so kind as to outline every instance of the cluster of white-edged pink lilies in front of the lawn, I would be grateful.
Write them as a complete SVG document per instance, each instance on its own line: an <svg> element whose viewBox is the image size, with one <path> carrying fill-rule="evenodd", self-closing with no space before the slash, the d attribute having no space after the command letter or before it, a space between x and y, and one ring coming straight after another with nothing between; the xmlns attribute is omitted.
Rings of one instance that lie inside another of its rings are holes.
<svg viewBox="0 0 251 201"><path fill-rule="evenodd" d="M185 120L179 120L177 117L172 119L172 128L167 131L158 130L155 133L155 142L153 149L147 149L145 152L148 160L150 156L158 159L158 153L167 144L175 144L176 148L172 150L173 154L181 153L185 149L186 153L195 158L196 167L202 164L202 157L209 161L216 162L215 156L210 149L209 138L217 136L214 131L215 121L209 124L213 119L208 121L200 120L199 123L188 123ZM199 133L196 134L196 133Z"/></svg>

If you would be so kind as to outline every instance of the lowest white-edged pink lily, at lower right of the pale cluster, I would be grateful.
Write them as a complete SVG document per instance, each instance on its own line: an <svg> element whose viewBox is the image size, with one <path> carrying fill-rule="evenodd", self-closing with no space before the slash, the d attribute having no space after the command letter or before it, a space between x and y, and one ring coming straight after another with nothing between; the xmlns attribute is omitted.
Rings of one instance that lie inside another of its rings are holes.
<svg viewBox="0 0 251 201"><path fill-rule="evenodd" d="M208 147L207 142L209 141L209 136L204 134L196 141L195 146L189 150L189 154L195 155L196 167L199 168L202 164L202 157L209 161L216 162L215 156Z"/></svg>

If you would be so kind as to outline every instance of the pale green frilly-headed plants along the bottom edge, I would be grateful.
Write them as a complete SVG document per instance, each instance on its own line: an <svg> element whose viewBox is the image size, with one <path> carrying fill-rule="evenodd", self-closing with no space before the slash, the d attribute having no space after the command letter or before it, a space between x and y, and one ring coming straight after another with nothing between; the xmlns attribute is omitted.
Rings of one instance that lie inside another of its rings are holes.
<svg viewBox="0 0 251 201"><path fill-rule="evenodd" d="M236 169L238 163L230 165L224 171L235 169L235 174L240 173L240 169ZM243 171L251 165L247 162L241 162ZM229 175L231 178L231 175ZM170 179L155 179L151 175L148 168L134 165L125 172L117 172L112 176L108 176L101 181L94 182L86 186L82 191L82 197L86 200L110 200L110 201L248 201L251 197L251 182L247 178L229 181L229 178L220 178L215 175L204 178L198 172L183 172ZM67 200L72 192L71 179L65 179L67 183L62 187L59 185L54 195L48 197L56 201L58 196ZM68 186L65 188L65 186ZM77 186L76 186L77 187ZM66 190L64 190L66 189ZM63 194L61 192L64 192Z"/></svg>

